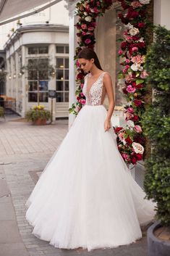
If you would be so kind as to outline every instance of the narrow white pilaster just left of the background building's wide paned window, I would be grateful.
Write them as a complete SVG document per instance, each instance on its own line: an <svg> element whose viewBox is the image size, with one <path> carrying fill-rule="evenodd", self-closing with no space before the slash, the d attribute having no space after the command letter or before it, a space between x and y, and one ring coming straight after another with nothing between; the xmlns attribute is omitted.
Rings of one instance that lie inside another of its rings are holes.
<svg viewBox="0 0 170 256"><path fill-rule="evenodd" d="M22 67L26 65L26 47L22 46ZM25 117L25 112L27 110L27 90L26 90L26 70L24 75L22 75L22 117Z"/></svg>

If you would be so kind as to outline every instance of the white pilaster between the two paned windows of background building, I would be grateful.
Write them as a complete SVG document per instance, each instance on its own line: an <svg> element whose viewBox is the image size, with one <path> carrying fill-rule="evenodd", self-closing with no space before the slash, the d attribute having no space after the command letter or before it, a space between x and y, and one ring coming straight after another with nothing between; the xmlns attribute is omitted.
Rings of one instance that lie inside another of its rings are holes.
<svg viewBox="0 0 170 256"><path fill-rule="evenodd" d="M50 64L56 67L56 45L50 44L48 48ZM48 90L56 91L56 74L48 82ZM51 111L51 102L53 101L53 123L56 121L56 99L48 98L48 110Z"/></svg>

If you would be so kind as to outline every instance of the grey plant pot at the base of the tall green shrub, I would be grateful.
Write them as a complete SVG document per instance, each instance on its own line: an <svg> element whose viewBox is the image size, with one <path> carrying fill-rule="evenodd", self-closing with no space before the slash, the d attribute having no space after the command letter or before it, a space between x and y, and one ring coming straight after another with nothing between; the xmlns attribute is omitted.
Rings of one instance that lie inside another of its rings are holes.
<svg viewBox="0 0 170 256"><path fill-rule="evenodd" d="M154 231L161 227L160 221L156 221L148 228L148 256L169 256L170 255L170 242L158 239Z"/></svg>

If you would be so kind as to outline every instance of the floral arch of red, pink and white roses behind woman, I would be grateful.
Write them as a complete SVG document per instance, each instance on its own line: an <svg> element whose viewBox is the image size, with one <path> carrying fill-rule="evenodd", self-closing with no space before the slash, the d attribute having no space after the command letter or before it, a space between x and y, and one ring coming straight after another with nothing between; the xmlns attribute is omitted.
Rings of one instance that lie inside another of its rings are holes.
<svg viewBox="0 0 170 256"><path fill-rule="evenodd" d="M145 112L146 78L148 74L144 69L146 54L146 29L148 27L147 5L150 0L81 0L76 5L76 15L79 17L75 25L77 28L78 46L75 52L75 65L77 67L77 89L75 91L77 102L72 104L69 112L77 115L85 104L85 95L82 94L84 73L77 62L77 54L82 48L94 49L96 18L103 16L112 4L119 1L122 12L119 19L124 23L124 38L119 49L120 65L122 71L118 80L123 83L122 91L127 99L124 107L126 113L126 128L116 127L117 144L124 161L135 165L143 160L145 137L141 127L141 117Z"/></svg>

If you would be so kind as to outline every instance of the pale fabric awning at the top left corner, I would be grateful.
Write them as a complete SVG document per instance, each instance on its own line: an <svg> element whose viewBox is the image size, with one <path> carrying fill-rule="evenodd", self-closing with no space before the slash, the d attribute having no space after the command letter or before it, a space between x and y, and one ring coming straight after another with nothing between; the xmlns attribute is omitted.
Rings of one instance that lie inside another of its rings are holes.
<svg viewBox="0 0 170 256"><path fill-rule="evenodd" d="M41 12L59 1L61 0L0 0L0 25ZM30 12L24 13L26 11Z"/></svg>

